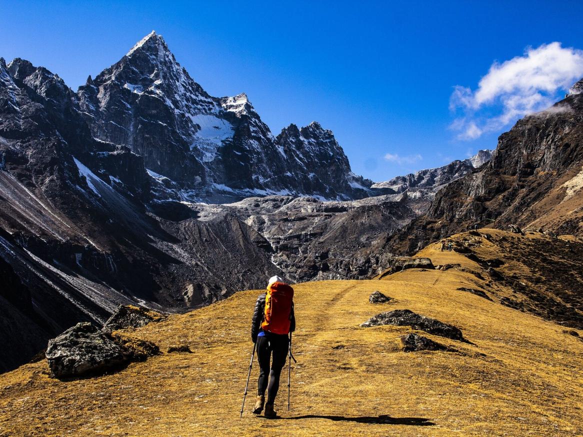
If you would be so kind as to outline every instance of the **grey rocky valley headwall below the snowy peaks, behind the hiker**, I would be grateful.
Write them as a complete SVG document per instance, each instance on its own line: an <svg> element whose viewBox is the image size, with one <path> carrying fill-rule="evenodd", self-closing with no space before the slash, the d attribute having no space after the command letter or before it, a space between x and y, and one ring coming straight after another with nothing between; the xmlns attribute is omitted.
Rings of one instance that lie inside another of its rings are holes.
<svg viewBox="0 0 583 437"><path fill-rule="evenodd" d="M262 235L271 260L293 282L364 279L387 269L381 245L416 213L406 196L346 202L292 196L247 198L229 205L193 205L199 220L220 212L240 217Z"/></svg>

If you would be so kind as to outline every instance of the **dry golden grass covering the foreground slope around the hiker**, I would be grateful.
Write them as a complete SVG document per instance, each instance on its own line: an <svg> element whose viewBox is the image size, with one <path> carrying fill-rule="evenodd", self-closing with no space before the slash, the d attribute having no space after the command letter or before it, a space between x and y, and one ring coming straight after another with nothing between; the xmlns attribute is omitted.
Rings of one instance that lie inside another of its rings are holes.
<svg viewBox="0 0 583 437"><path fill-rule="evenodd" d="M420 255L479 269L436 246ZM459 270L294 286L298 364L289 412L287 366L282 373L280 420L250 413L257 361L239 418L260 292L244 291L126 332L162 351L187 344L192 354L162 354L72 382L51 378L44 361L0 375L0 435L583 435L583 341L554 323L456 290L464 286L475 287L476 279ZM368 303L375 290L396 302ZM459 353L403 353L399 336L408 327L359 327L376 313L404 308L458 326L475 344L424 334ZM375 423L380 415L393 420Z"/></svg>

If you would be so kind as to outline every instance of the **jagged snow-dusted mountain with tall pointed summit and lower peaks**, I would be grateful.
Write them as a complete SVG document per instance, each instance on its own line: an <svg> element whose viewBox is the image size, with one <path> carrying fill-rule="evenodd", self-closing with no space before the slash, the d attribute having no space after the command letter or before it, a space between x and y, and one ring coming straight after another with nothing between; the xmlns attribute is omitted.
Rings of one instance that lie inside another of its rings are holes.
<svg viewBox="0 0 583 437"><path fill-rule="evenodd" d="M77 92L94 138L127 146L184 200L370 195L331 131L290 125L275 138L242 93L212 97L154 31ZM294 129L295 128L295 129Z"/></svg>

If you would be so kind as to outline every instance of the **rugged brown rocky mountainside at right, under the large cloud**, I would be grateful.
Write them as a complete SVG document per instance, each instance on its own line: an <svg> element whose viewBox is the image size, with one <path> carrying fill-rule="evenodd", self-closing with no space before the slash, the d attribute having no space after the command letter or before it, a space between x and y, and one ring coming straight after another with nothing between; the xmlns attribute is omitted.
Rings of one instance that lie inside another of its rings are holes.
<svg viewBox="0 0 583 437"><path fill-rule="evenodd" d="M491 160L439 191L426 214L385 244L415 252L468 228L510 225L583 235L583 94L527 115L498 138Z"/></svg>

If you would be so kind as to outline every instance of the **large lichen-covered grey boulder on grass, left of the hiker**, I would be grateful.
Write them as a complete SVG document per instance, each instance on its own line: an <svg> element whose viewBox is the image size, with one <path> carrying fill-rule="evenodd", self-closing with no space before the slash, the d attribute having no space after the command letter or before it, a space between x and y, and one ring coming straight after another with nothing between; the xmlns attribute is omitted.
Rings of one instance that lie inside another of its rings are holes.
<svg viewBox="0 0 583 437"><path fill-rule="evenodd" d="M77 323L48 341L47 360L57 378L102 373L128 361L124 348L89 322Z"/></svg>

